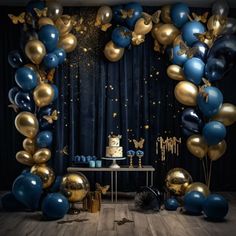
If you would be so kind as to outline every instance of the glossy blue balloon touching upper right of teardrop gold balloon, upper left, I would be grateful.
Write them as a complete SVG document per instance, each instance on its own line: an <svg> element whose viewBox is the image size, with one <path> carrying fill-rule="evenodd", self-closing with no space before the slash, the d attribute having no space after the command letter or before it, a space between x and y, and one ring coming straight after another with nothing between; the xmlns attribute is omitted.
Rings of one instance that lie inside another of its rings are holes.
<svg viewBox="0 0 236 236"><path fill-rule="evenodd" d="M59 31L53 25L44 25L39 30L39 40L45 45L47 52L52 52L56 49L59 41Z"/></svg>

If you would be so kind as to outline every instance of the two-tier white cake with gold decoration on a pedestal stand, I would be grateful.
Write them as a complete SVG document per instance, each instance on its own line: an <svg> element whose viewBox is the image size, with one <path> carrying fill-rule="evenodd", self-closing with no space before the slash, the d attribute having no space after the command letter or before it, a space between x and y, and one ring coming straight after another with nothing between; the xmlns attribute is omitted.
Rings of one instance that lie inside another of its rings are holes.
<svg viewBox="0 0 236 236"><path fill-rule="evenodd" d="M106 157L123 157L123 147L120 146L121 135L109 135L109 146L106 147Z"/></svg>

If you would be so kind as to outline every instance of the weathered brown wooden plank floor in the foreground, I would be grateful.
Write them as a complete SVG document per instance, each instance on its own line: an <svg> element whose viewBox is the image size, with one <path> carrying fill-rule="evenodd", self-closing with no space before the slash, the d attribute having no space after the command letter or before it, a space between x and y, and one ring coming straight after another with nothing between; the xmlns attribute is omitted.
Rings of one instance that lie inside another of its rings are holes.
<svg viewBox="0 0 236 236"><path fill-rule="evenodd" d="M0 236L235 236L236 194L227 193L230 201L229 214L224 222L213 223L204 216L189 216L178 211L159 213L135 211L133 201L118 204L104 203L100 213L81 212L77 216L67 215L63 220L87 219L84 222L60 224L58 221L42 221L40 212L0 212ZM134 222L118 225L115 220L127 218Z"/></svg>

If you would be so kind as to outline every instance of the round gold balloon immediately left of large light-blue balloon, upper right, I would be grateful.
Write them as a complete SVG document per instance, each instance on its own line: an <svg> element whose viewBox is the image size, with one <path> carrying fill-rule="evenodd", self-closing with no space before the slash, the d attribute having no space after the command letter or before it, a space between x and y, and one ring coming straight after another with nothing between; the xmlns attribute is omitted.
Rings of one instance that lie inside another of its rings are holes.
<svg viewBox="0 0 236 236"><path fill-rule="evenodd" d="M180 31L173 24L164 24L157 30L156 39L163 45L170 45L179 34Z"/></svg>

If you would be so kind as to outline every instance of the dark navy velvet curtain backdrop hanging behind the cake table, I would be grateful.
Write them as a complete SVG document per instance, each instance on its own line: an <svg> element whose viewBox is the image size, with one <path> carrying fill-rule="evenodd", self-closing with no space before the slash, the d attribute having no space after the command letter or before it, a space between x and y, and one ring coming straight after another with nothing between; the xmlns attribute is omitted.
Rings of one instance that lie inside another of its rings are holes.
<svg viewBox="0 0 236 236"><path fill-rule="evenodd" d="M60 114L54 127L54 154L50 165L57 175L61 175L71 165L74 155L104 156L107 137L113 132L122 135L124 153L134 149L133 139L145 139L143 164L156 168L156 186L162 185L166 172L173 167L183 167L191 173L194 181L203 181L201 163L187 151L183 137L178 157L168 154L166 161L161 162L160 154L156 155L157 137L182 136L180 117L184 107L174 97L176 82L166 75L168 58L153 50L153 39L149 35L144 44L126 50L121 61L108 62L102 51L110 39L110 31L104 33L94 27L96 10L65 9L65 13L77 14L84 19L81 25L84 33L77 32L77 49L68 55L66 63L56 73L59 88L56 107ZM149 7L145 10L153 12L156 9ZM23 138L14 127L16 114L7 107L8 91L15 86L14 70L8 65L7 55L9 51L19 49L20 44L20 27L12 25L7 14L20 12L19 8L0 8L1 189L10 189L15 177L24 169L15 160L15 153L22 149ZM232 15L235 12L231 10ZM235 72L236 68L218 83L224 102L234 104ZM227 152L213 163L214 190L236 190L236 125L227 131ZM65 149L69 155L63 152ZM121 164L128 164L128 160ZM102 184L110 181L105 173L90 174L88 178L92 186L95 181ZM123 173L118 184L120 190L133 191L144 184L144 178L135 173Z"/></svg>

